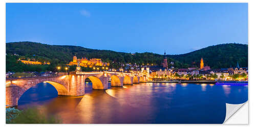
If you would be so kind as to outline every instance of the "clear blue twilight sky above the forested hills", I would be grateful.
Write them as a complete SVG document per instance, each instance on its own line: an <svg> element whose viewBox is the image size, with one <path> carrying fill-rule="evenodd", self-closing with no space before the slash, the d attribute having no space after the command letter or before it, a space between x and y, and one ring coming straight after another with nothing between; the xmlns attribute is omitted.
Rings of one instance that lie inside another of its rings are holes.
<svg viewBox="0 0 256 128"><path fill-rule="evenodd" d="M248 4L6 4L6 42L182 54L248 44Z"/></svg>

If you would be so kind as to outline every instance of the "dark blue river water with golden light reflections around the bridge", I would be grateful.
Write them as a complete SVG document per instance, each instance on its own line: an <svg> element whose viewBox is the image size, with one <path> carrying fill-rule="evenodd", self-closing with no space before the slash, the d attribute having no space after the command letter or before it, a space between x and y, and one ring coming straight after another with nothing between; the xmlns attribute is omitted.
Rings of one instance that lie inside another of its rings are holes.
<svg viewBox="0 0 256 128"><path fill-rule="evenodd" d="M49 83L32 87L18 108L37 106L63 123L223 123L225 103L244 103L248 86L140 83L92 90L86 95L58 96Z"/></svg>

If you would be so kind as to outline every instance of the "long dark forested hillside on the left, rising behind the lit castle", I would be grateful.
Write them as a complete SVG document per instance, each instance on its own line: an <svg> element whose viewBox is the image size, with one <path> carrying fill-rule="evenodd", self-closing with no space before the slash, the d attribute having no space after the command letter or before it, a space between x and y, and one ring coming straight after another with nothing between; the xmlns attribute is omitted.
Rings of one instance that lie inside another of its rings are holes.
<svg viewBox="0 0 256 128"><path fill-rule="evenodd" d="M35 58L38 61L50 61L51 63L69 63L73 56L101 58L104 62L131 62L131 63L161 63L163 56L154 53L114 52L110 50L95 50L78 46L46 45L38 42L9 42L6 44L7 54L18 54L22 59Z"/></svg>

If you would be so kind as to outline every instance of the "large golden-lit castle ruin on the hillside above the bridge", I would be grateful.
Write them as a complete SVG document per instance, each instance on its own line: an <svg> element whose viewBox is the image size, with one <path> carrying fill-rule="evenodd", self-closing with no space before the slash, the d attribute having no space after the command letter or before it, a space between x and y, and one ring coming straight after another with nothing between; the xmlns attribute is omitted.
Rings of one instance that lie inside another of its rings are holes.
<svg viewBox="0 0 256 128"><path fill-rule="evenodd" d="M107 62L102 62L101 59L98 58L91 58L90 60L87 59L86 57L78 59L76 56L73 57L73 61L69 62L68 65L73 66L73 65L78 65L82 67L93 67L93 66L109 66L110 63Z"/></svg>

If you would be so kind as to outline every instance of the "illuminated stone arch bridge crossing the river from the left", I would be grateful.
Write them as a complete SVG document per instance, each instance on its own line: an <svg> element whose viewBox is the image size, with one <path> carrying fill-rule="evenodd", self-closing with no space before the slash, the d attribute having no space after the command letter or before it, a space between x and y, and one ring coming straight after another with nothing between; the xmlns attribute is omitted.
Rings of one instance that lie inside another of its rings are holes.
<svg viewBox="0 0 256 128"><path fill-rule="evenodd" d="M82 96L84 95L84 80L92 81L92 88L97 90L108 89L108 81L111 86L122 87L123 84L139 83L140 76L132 73L120 72L71 72L69 75L44 76L31 78L6 79L6 105L17 106L19 98L31 87L38 83L50 83L58 92L58 95Z"/></svg>

